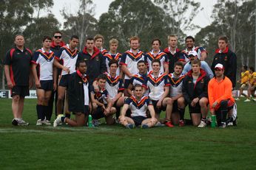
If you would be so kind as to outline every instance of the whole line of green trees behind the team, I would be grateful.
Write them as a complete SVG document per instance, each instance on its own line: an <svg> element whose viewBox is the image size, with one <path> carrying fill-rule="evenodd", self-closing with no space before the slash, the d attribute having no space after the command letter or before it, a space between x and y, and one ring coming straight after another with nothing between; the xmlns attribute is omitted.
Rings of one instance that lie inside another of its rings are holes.
<svg viewBox="0 0 256 170"><path fill-rule="evenodd" d="M23 33L25 45L36 50L41 48L41 38L44 35L51 36L53 32L60 30L61 24L49 10L52 7L53 0L1 2L1 89L5 87L2 61L7 50L13 46L14 36ZM255 8L253 0L217 1L212 11L212 24L195 35L196 45L206 48L209 63L212 63L215 49L218 48L220 35L227 35L229 38L229 46L238 56L238 68L255 63ZM141 50L147 52L153 38L162 41L162 49L168 46L168 35L178 35L178 48L183 49L186 37L184 32L199 27L192 20L203 7L192 0L115 0L107 13L103 13L98 20L92 15L94 10L92 0L80 0L75 14L70 14L67 9L61 10L65 22L60 31L64 33L66 42L71 35L78 35L81 42L79 48L82 49L84 38L100 33L104 35L105 48L108 49L111 38L117 38L118 49L124 52L129 46L128 39L137 35L141 38ZM45 11L47 15L41 16Z"/></svg>

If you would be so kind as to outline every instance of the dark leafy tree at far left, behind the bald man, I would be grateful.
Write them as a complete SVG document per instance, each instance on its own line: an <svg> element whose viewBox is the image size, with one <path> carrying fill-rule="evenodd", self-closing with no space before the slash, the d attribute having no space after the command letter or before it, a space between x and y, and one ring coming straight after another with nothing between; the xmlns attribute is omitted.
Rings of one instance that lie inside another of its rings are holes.
<svg viewBox="0 0 256 170"><path fill-rule="evenodd" d="M33 24L33 13L37 9L38 14L44 7L51 7L53 0L3 0L0 3L0 59L3 62L5 53L13 46L14 37L17 33L23 33L24 29ZM31 30L38 32L37 29ZM30 37L30 34L27 34ZM26 38L26 37L25 37ZM30 43L29 40L27 43ZM27 45L26 45L27 46ZM1 88L4 86L4 71L1 64Z"/></svg>

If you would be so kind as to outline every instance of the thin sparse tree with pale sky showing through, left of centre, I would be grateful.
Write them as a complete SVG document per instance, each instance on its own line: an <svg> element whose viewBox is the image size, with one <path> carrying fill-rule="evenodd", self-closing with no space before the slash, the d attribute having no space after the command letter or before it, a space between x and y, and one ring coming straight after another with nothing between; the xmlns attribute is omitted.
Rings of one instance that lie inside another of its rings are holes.
<svg viewBox="0 0 256 170"><path fill-rule="evenodd" d="M78 13L75 15L62 10L66 21L64 22L65 35L78 35L80 49L84 47L84 39L95 35L98 21L93 17L94 5L91 0L80 0Z"/></svg>

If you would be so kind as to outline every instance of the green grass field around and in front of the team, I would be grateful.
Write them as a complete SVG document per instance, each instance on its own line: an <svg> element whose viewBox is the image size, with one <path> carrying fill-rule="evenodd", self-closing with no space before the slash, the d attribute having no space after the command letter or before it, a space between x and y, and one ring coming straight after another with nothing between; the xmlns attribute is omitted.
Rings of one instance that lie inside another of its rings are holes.
<svg viewBox="0 0 256 170"><path fill-rule="evenodd" d="M0 99L0 169L256 169L255 102L238 102L238 127L13 127L11 100ZM186 115L187 116L187 115Z"/></svg>

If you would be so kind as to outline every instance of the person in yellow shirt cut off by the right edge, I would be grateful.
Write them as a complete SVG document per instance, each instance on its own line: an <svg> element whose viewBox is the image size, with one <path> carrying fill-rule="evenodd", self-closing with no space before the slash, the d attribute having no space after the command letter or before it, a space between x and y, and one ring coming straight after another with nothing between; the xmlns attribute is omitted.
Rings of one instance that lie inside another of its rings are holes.
<svg viewBox="0 0 256 170"><path fill-rule="evenodd" d="M250 97L252 95L252 100L256 102L255 90L256 90L256 72L255 68L249 67L249 87L247 99L244 102L250 102Z"/></svg>

